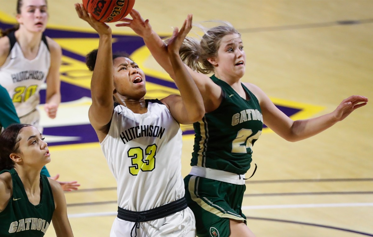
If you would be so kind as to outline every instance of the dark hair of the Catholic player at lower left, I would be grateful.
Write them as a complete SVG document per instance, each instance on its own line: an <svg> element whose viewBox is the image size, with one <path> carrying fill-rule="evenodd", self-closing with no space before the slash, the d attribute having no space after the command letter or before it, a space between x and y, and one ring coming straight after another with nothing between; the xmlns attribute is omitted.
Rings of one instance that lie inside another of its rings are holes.
<svg viewBox="0 0 373 237"><path fill-rule="evenodd" d="M19 141L21 137L19 132L30 124L13 124L4 129L0 134L0 171L3 169L12 169L14 162L10 159L11 153L19 152Z"/></svg>

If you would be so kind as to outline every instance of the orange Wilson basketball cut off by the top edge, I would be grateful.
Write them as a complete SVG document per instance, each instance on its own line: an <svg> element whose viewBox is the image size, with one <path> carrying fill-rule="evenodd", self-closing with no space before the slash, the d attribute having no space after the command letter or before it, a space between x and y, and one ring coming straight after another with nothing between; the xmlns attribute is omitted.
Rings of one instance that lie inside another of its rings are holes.
<svg viewBox="0 0 373 237"><path fill-rule="evenodd" d="M83 0L88 13L101 22L116 22L131 12L135 0Z"/></svg>

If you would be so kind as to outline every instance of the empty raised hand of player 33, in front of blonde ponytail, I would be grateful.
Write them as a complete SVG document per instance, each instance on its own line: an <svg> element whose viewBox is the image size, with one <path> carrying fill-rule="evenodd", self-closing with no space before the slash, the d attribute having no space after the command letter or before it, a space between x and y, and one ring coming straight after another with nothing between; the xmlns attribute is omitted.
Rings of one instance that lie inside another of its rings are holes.
<svg viewBox="0 0 373 237"><path fill-rule="evenodd" d="M179 54L179 49L189 31L192 29L193 15L189 14L184 20L184 24L181 26L180 31L177 27L173 29L172 36L167 43L167 51L169 53Z"/></svg>

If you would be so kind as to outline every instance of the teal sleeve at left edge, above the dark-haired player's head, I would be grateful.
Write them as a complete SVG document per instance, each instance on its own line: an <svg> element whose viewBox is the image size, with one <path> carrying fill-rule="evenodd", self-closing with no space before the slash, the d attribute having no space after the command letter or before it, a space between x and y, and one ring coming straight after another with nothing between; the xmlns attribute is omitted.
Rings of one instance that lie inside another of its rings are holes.
<svg viewBox="0 0 373 237"><path fill-rule="evenodd" d="M19 118L8 91L0 85L0 132L10 124L19 124Z"/></svg>

